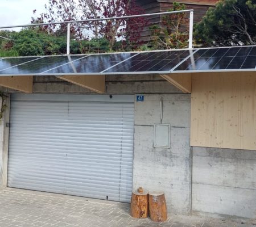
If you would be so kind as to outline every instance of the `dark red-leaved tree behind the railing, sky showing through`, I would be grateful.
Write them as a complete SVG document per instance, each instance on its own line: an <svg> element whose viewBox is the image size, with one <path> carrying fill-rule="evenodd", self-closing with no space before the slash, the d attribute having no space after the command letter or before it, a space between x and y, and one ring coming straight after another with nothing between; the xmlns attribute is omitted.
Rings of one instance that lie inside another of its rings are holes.
<svg viewBox="0 0 256 227"><path fill-rule="evenodd" d="M97 22L72 23L71 31L77 41L92 37L94 40L108 40L110 51L114 51L119 40L123 41L124 47L140 45L141 33L147 25L147 20L142 17L107 19L143 14L135 0L48 0L46 10L39 17L32 18L32 23L106 18ZM56 29L56 25L46 27L50 31ZM60 28L67 31L65 24Z"/></svg>

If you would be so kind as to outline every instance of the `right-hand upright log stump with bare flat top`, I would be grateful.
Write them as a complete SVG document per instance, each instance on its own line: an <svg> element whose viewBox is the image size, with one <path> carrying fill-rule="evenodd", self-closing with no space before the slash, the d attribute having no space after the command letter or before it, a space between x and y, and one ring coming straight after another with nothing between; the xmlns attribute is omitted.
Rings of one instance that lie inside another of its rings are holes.
<svg viewBox="0 0 256 227"><path fill-rule="evenodd" d="M166 221L166 198L164 192L148 192L150 217L152 221Z"/></svg>

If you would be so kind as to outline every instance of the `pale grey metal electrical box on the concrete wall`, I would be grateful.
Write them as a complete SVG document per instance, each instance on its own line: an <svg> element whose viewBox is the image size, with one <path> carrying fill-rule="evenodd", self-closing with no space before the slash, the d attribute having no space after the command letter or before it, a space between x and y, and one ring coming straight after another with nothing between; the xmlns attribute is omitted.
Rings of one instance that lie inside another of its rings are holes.
<svg viewBox="0 0 256 227"><path fill-rule="evenodd" d="M170 124L154 125L154 148L170 148Z"/></svg>

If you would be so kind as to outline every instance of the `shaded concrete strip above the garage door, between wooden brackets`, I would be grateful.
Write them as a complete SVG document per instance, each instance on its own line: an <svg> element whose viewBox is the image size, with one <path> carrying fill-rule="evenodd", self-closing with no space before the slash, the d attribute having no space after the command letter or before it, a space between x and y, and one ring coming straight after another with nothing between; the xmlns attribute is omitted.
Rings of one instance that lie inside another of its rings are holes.
<svg viewBox="0 0 256 227"><path fill-rule="evenodd" d="M159 75L107 75L106 94L181 93ZM34 77L33 93L93 93L56 77Z"/></svg>

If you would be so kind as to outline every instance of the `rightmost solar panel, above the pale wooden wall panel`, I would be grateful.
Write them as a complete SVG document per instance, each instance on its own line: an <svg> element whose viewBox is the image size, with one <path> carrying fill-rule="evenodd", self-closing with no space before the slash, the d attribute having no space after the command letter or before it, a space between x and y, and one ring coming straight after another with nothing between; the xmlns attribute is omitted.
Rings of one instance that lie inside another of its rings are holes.
<svg viewBox="0 0 256 227"><path fill-rule="evenodd" d="M174 72L255 69L255 66L256 47L212 48L199 49L177 66Z"/></svg>

